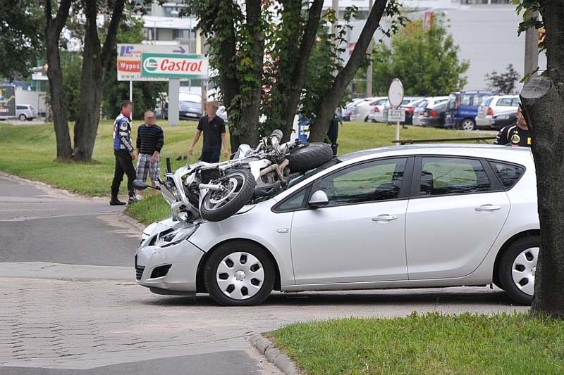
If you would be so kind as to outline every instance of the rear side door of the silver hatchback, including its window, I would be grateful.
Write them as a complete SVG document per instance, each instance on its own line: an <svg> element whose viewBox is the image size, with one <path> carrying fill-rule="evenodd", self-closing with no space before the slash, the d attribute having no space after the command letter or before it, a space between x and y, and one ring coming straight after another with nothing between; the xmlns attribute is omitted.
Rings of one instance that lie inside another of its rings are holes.
<svg viewBox="0 0 564 375"><path fill-rule="evenodd" d="M479 158L416 158L405 223L409 279L472 273L505 224L509 208L494 172Z"/></svg>

